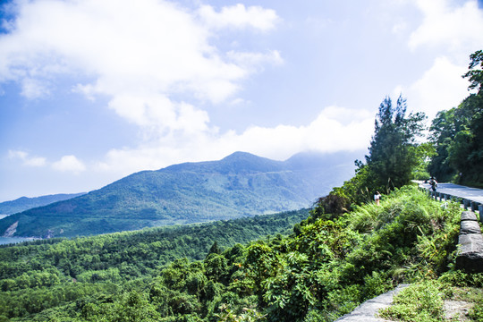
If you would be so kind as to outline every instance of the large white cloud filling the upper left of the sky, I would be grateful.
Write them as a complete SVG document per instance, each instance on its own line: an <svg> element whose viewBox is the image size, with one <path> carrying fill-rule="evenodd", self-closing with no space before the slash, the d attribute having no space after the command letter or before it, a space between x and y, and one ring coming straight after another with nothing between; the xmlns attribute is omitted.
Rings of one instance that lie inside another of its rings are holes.
<svg viewBox="0 0 483 322"><path fill-rule="evenodd" d="M154 116L160 131L177 131L204 113L174 97L225 102L262 64L282 61L277 51L225 54L210 44L213 30L228 25L273 30L275 11L259 6L237 4L216 12L164 0L18 4L10 33L0 36L0 81L19 81L21 94L35 98L50 93L55 77L89 79L72 84L72 91L89 99L109 97L117 114L140 126L155 126L149 121ZM206 120L203 115L197 126Z"/></svg>

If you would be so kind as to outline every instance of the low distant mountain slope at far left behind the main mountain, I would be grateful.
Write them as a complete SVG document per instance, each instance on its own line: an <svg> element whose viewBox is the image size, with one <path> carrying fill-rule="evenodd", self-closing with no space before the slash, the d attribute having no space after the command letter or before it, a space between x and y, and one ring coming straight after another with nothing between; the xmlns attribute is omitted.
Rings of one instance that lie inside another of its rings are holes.
<svg viewBox="0 0 483 322"><path fill-rule="evenodd" d="M72 199L85 194L81 193L60 193L35 198L21 197L12 201L4 201L0 203L0 215L12 215L31 208L46 206L56 201Z"/></svg>

